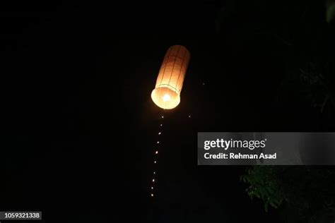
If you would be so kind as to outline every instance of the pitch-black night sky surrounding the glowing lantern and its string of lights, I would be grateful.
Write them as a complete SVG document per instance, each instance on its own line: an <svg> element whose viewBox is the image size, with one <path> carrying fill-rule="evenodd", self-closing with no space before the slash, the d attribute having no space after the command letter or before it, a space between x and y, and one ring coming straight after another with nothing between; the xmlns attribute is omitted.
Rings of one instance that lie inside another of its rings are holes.
<svg viewBox="0 0 335 223"><path fill-rule="evenodd" d="M294 88L277 100L288 71L334 52L322 2L29 2L1 6L0 23L0 210L64 212L62 222L274 222L245 193L245 167L196 166L196 133L334 131L334 116ZM191 61L182 102L166 113L152 202L161 111L150 94L173 44Z"/></svg>

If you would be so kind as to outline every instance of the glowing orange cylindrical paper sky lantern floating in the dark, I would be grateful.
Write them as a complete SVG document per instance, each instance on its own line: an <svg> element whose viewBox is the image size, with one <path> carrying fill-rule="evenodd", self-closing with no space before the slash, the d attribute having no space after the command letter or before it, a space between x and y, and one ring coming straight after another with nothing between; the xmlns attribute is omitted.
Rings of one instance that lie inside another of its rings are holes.
<svg viewBox="0 0 335 223"><path fill-rule="evenodd" d="M163 64L160 66L155 89L151 98L162 109L173 109L180 103L180 92L189 65L189 51L175 45L167 49Z"/></svg>

